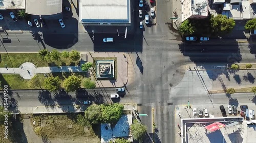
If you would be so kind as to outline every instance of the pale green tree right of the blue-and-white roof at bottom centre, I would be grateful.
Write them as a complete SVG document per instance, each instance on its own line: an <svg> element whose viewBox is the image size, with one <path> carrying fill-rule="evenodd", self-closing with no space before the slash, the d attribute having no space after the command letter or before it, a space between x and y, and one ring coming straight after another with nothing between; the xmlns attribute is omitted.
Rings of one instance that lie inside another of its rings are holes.
<svg viewBox="0 0 256 143"><path fill-rule="evenodd" d="M141 142L145 137L145 132L147 130L147 127L143 124L140 124L137 120L133 120L133 124L131 125L131 129L133 132L134 139Z"/></svg>

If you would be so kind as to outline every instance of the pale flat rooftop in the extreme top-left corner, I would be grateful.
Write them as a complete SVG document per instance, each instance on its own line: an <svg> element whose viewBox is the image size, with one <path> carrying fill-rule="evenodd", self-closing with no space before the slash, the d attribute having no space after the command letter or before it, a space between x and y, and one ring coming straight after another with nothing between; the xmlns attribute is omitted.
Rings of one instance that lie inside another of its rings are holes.
<svg viewBox="0 0 256 143"><path fill-rule="evenodd" d="M0 9L25 9L25 0L1 1Z"/></svg>

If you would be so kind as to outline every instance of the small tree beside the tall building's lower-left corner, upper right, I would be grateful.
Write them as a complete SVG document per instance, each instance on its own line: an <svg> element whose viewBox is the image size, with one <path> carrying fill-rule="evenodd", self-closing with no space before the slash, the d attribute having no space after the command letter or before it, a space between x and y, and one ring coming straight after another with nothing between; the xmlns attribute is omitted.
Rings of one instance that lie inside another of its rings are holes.
<svg viewBox="0 0 256 143"><path fill-rule="evenodd" d="M183 21L179 27L181 35L187 36L196 32L196 27L193 26L188 19Z"/></svg>

